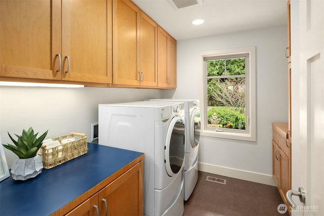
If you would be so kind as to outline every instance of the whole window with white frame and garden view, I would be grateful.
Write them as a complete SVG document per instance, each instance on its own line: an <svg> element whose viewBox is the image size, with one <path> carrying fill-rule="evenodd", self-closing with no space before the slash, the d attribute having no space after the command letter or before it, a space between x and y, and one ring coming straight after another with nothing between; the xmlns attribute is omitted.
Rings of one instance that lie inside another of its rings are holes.
<svg viewBox="0 0 324 216"><path fill-rule="evenodd" d="M212 51L201 56L201 135L255 141L255 47Z"/></svg>

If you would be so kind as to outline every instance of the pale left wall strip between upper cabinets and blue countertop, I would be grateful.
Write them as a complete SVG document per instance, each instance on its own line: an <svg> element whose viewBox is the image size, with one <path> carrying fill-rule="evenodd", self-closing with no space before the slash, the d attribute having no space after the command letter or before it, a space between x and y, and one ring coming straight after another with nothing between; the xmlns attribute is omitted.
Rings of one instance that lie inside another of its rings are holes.
<svg viewBox="0 0 324 216"><path fill-rule="evenodd" d="M46 139L84 133L90 141L91 123L98 122L98 104L141 101L161 97L163 90L115 88L36 88L0 87L0 137L2 143L13 145L13 138L22 129L33 127L39 135L49 130ZM5 149L9 168L14 153Z"/></svg>

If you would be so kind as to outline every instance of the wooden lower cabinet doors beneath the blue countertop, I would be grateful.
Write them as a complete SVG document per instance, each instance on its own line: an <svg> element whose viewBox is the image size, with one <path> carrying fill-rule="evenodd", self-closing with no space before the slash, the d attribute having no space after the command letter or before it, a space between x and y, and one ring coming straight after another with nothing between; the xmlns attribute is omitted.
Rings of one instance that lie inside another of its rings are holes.
<svg viewBox="0 0 324 216"><path fill-rule="evenodd" d="M143 160L66 215L143 215Z"/></svg>

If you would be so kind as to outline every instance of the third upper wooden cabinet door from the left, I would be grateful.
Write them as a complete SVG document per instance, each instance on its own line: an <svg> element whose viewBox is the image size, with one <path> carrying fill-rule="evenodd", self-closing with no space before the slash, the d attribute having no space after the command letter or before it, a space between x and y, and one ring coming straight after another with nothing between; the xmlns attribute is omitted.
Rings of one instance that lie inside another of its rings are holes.
<svg viewBox="0 0 324 216"><path fill-rule="evenodd" d="M140 9L129 0L113 0L113 83L139 85Z"/></svg>

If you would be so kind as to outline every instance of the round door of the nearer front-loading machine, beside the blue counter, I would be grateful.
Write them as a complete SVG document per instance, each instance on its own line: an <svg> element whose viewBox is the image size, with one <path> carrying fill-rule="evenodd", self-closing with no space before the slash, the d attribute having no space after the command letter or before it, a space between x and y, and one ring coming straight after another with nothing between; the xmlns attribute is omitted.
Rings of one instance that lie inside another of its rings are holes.
<svg viewBox="0 0 324 216"><path fill-rule="evenodd" d="M175 176L183 166L184 160L184 121L181 117L172 118L164 147L164 161L167 174Z"/></svg>

